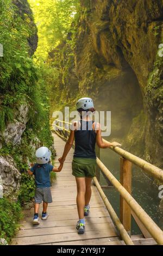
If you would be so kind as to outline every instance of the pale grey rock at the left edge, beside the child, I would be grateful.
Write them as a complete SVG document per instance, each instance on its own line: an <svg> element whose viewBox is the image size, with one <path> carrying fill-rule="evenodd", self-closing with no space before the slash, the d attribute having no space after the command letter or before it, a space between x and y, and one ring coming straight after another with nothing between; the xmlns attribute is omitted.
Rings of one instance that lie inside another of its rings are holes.
<svg viewBox="0 0 163 256"><path fill-rule="evenodd" d="M0 175L3 186L3 196L16 197L20 188L21 174L14 166L10 156L0 156Z"/></svg>

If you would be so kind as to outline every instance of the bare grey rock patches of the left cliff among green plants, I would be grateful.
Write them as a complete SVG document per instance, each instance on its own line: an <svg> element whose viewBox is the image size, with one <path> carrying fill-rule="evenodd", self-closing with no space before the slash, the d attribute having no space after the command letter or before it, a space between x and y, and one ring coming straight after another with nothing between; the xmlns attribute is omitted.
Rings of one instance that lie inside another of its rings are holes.
<svg viewBox="0 0 163 256"><path fill-rule="evenodd" d="M30 9L27 0L13 0L12 2L17 6L16 11L22 19L24 19L24 14L27 14L26 17L28 16L29 18L30 22L28 25L33 32L32 36L28 38L29 57L31 57L36 50L38 40L32 10ZM19 147L19 145L21 145L23 132L26 130L29 120L29 105L26 97L24 97L21 102L24 103L17 103L17 105L14 106L14 120L12 123L8 123L5 130L0 132L0 149L2 149L2 152L4 148L7 148L8 146L14 149L15 146L18 145ZM40 145L40 141L37 138L29 138L29 145L33 150L34 147ZM3 196L16 199L17 192L20 188L21 173L17 169L16 162L12 156L6 153L5 150L4 152L5 153L0 156L0 192L2 192L3 187ZM24 155L23 152L18 155L18 158L23 164L29 161L28 157Z"/></svg>

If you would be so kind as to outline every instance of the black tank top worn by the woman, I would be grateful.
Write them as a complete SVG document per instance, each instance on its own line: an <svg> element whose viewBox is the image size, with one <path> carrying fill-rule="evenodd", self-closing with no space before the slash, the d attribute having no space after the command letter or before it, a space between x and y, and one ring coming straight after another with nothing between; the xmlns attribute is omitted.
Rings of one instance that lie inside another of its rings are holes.
<svg viewBox="0 0 163 256"><path fill-rule="evenodd" d="M80 120L79 123L80 130L74 132L74 157L96 159L96 132L92 129L94 121Z"/></svg>

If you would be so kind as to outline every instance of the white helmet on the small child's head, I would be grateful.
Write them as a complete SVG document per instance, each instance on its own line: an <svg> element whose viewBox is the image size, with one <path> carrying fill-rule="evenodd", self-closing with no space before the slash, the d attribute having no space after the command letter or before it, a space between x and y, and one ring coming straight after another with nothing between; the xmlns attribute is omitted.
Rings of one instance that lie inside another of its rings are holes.
<svg viewBox="0 0 163 256"><path fill-rule="evenodd" d="M36 151L36 163L48 163L51 159L51 150L46 147L41 147Z"/></svg>

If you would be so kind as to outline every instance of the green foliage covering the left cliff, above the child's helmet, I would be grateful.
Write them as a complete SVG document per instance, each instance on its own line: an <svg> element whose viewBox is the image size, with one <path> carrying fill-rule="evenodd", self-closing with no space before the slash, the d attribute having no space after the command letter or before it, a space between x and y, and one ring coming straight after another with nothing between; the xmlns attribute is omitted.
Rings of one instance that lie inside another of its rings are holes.
<svg viewBox="0 0 163 256"><path fill-rule="evenodd" d="M0 0L0 4L0 42L4 46L4 57L0 58L0 131L14 119L14 109L24 102L28 103L29 129L18 154L26 151L32 158L31 147L28 147L29 133L37 135L42 145L51 147L53 144L48 126L47 88L41 68L29 57L28 38L34 29L29 14L20 15L11 0Z"/></svg>

